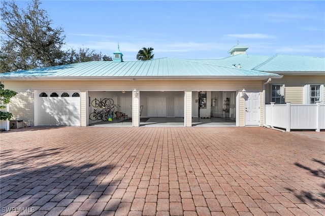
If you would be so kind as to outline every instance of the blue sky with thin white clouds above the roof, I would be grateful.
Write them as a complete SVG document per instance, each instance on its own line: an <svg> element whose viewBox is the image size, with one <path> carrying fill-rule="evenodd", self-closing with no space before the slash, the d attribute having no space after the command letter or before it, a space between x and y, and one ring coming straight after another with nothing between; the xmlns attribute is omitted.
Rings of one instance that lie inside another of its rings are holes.
<svg viewBox="0 0 325 216"><path fill-rule="evenodd" d="M20 5L26 2L19 1ZM154 58L223 58L247 54L325 56L324 1L41 1L66 48L85 47L124 60L142 47Z"/></svg>

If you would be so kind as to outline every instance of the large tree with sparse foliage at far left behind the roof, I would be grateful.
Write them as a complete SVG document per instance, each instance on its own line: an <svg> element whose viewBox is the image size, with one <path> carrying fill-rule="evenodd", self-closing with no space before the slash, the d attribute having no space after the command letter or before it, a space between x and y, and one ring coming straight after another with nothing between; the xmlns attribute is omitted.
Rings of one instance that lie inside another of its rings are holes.
<svg viewBox="0 0 325 216"><path fill-rule="evenodd" d="M0 71L16 71L54 66L66 55L62 51L66 38L61 27L53 28L39 0L32 0L25 10L14 1L3 1L0 32Z"/></svg>

